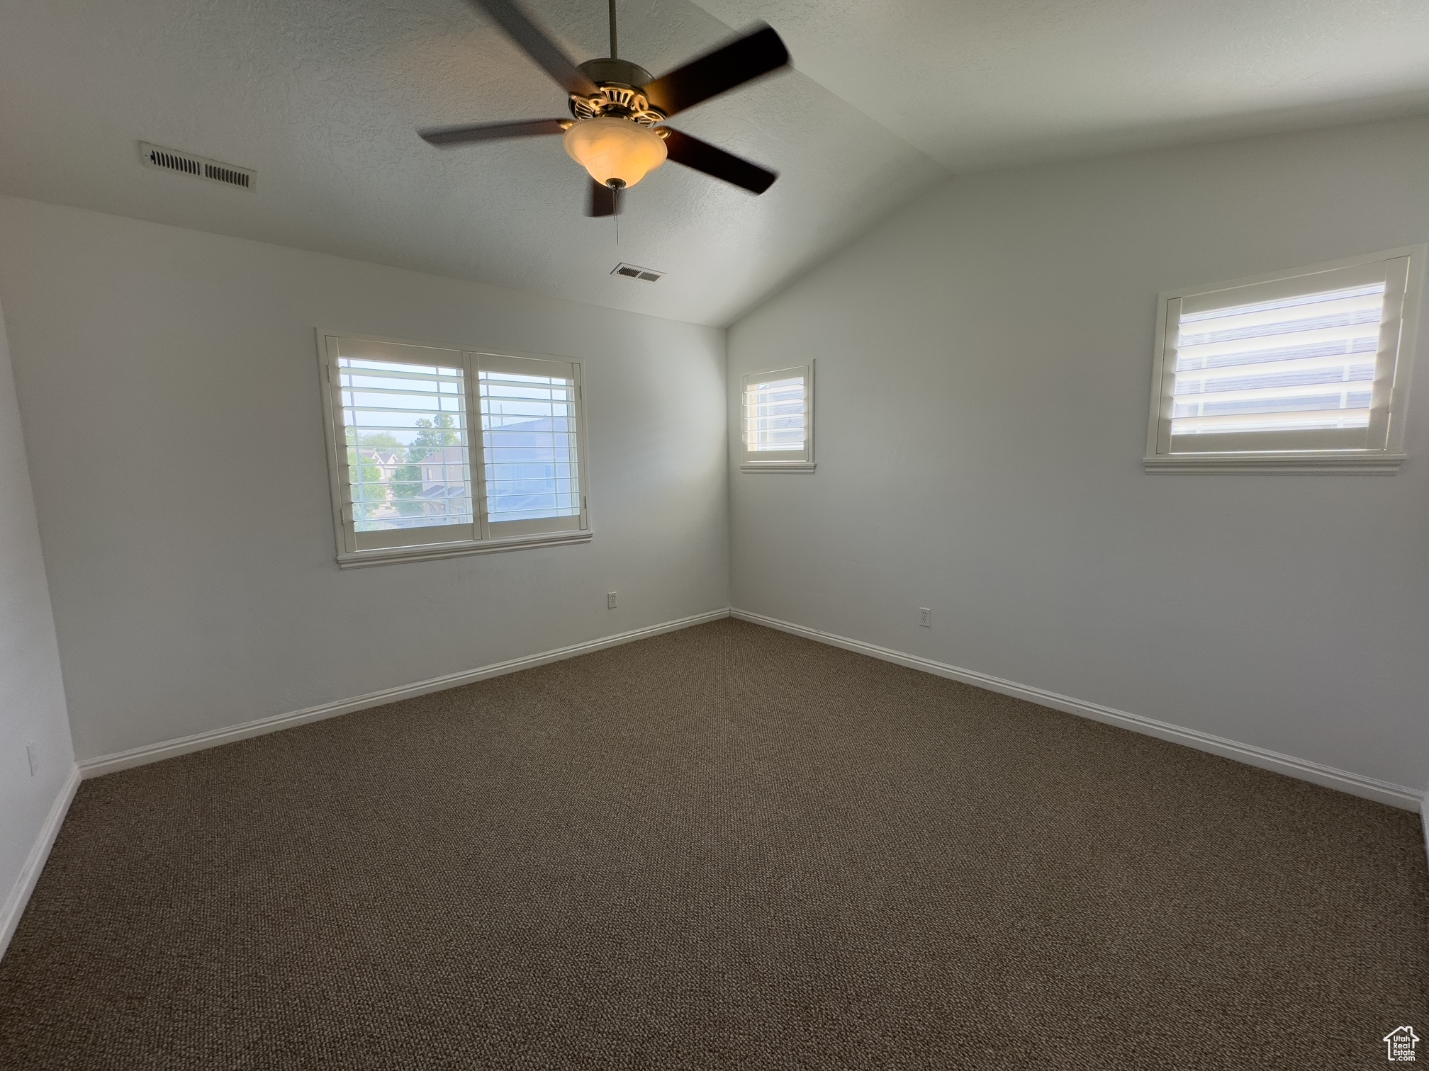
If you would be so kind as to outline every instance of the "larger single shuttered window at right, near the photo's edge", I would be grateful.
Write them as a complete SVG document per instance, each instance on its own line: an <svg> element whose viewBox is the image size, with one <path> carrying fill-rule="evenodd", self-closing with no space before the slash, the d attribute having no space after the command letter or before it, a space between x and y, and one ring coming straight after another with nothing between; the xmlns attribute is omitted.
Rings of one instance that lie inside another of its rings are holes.
<svg viewBox="0 0 1429 1071"><path fill-rule="evenodd" d="M1393 473L1423 258L1162 294L1147 471Z"/></svg>

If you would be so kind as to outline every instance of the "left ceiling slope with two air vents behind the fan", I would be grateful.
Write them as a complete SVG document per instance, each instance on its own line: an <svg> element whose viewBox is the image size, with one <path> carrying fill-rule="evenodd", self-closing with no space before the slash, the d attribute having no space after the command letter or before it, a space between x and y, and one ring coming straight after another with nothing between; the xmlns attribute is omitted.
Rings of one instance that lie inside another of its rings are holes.
<svg viewBox="0 0 1429 1071"><path fill-rule="evenodd" d="M576 60L603 0L526 4ZM623 0L622 56L656 74L730 29ZM783 71L672 126L780 171L753 197L677 166L620 220L584 213L560 139L433 149L413 130L566 114L564 94L466 0L0 0L0 193L594 304L723 324L946 177ZM146 169L137 141L257 170L252 193ZM612 277L620 260L667 271Z"/></svg>

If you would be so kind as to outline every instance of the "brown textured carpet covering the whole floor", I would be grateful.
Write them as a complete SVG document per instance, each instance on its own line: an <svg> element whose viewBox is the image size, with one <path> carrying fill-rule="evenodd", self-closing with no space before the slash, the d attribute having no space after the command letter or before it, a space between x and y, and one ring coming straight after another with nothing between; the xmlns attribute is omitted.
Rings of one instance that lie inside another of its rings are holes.
<svg viewBox="0 0 1429 1071"><path fill-rule="evenodd" d="M1425 871L1413 814L719 621L84 783L0 1067L1378 1068Z"/></svg>

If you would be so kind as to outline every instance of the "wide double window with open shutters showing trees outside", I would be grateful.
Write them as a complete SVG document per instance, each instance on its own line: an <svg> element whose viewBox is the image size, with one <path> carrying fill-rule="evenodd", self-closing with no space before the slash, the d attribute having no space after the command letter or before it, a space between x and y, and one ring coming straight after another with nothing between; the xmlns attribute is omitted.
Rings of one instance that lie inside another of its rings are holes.
<svg viewBox="0 0 1429 1071"><path fill-rule="evenodd" d="M590 538L579 361L322 341L340 565Z"/></svg>

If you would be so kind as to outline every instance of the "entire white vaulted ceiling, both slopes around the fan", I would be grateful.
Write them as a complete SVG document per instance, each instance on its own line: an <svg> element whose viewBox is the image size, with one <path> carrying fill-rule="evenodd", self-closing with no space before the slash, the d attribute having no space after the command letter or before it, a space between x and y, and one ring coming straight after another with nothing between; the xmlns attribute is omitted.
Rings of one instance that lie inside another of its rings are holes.
<svg viewBox="0 0 1429 1071"><path fill-rule="evenodd" d="M603 0L524 7L579 61ZM723 324L895 206L986 169L1429 111L1420 0L622 0L660 73L755 20L795 70L672 126L763 163L762 197L667 166L583 214L559 139L419 126L560 116L469 0L0 0L0 193ZM153 141L253 191L144 169ZM669 273L612 277L616 261Z"/></svg>

